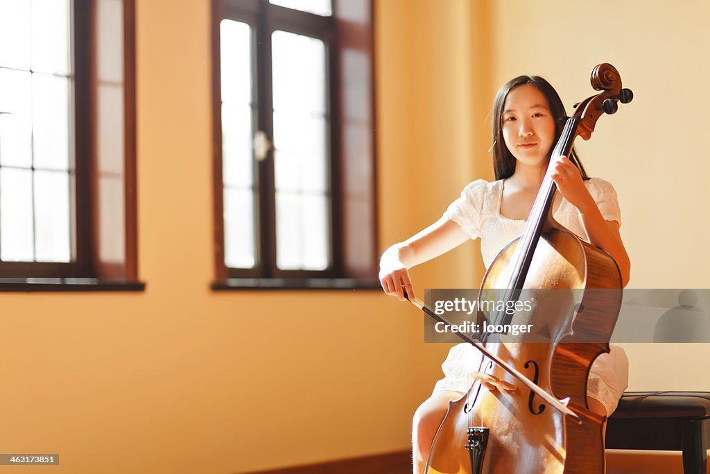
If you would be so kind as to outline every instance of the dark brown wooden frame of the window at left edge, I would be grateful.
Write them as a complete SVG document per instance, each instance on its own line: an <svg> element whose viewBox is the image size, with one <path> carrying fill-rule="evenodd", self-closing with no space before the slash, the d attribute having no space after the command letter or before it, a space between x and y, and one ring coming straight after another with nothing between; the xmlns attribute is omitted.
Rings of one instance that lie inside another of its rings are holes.
<svg viewBox="0 0 710 474"><path fill-rule="evenodd" d="M134 0L124 15L124 215L100 215L97 166L97 0L72 0L75 248L73 262L0 262L0 291L142 291L138 281L136 200L136 44ZM102 262L99 219L123 220L124 262ZM72 252L74 253L74 252Z"/></svg>

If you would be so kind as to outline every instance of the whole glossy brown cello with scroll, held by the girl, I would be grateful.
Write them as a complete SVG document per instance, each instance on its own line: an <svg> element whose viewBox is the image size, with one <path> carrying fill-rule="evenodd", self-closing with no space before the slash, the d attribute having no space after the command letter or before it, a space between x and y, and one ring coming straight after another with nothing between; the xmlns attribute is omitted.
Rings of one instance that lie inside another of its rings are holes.
<svg viewBox="0 0 710 474"><path fill-rule="evenodd" d="M601 92L575 104L576 112L552 149L550 166L569 156L577 136L588 140L602 114L613 114L618 102L633 99L610 64L594 68L591 85ZM621 307L621 274L609 254L555 221L551 208L556 189L546 173L523 234L488 267L478 296L482 301L498 295L507 307L525 291L553 289L555 296L547 298L535 293L535 308L526 316L545 322L545 336L518 343L505 342L505 335L457 333L482 352L479 377L464 397L449 403L427 473L604 472L605 418L589 409L586 382L596 357L609 352ZM413 303L449 323L421 301ZM512 318L506 311L478 315L494 326L505 326Z"/></svg>

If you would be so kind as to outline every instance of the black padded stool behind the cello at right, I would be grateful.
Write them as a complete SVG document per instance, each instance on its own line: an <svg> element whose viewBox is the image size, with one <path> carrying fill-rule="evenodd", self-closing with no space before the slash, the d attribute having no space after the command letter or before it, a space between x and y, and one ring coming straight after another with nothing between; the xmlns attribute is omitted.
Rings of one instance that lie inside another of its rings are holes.
<svg viewBox="0 0 710 474"><path fill-rule="evenodd" d="M608 419L606 448L683 451L683 472L706 474L710 392L625 392Z"/></svg>

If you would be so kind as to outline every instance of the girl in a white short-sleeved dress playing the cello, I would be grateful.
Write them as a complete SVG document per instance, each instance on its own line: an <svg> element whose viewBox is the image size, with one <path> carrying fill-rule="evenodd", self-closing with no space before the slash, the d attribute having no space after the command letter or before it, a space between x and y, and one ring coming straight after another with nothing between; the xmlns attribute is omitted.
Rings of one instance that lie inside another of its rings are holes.
<svg viewBox="0 0 710 474"><path fill-rule="evenodd" d="M474 181L464 188L443 217L404 242L388 248L380 260L384 291L404 301L414 298L411 267L438 257L467 239L481 237L481 253L488 267L496 254L520 235L530 213L555 142L562 134L564 105L542 77L520 76L507 82L493 102L493 167L496 181ZM630 261L619 235L621 212L611 184L588 178L577 153L562 157L550 168L559 193L552 213L557 222L587 242L606 250L619 266L623 286ZM414 473L423 473L436 431L450 400L469 390L479 370L480 353L469 344L455 345L442 364L445 377L417 409L413 421ZM610 415L628 381L628 360L613 346L594 361L588 383L589 407Z"/></svg>

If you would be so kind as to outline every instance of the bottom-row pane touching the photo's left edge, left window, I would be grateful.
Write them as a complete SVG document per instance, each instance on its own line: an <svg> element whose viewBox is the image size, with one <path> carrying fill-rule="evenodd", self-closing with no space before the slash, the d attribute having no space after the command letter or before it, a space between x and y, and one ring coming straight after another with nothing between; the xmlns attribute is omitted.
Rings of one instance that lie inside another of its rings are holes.
<svg viewBox="0 0 710 474"><path fill-rule="evenodd" d="M32 171L0 168L0 259L34 259Z"/></svg>

